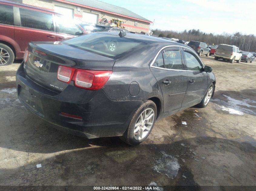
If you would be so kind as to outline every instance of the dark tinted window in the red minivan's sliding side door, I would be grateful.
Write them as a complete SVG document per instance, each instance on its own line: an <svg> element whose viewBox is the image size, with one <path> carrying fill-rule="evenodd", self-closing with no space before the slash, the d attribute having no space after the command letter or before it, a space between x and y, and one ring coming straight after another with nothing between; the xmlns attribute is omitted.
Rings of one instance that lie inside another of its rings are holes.
<svg viewBox="0 0 256 191"><path fill-rule="evenodd" d="M21 26L53 31L52 14L20 8Z"/></svg>

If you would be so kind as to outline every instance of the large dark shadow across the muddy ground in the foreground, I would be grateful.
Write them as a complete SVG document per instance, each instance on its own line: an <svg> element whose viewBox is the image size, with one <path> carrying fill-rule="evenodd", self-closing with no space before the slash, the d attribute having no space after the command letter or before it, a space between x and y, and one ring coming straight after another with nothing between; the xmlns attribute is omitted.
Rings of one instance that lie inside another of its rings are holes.
<svg viewBox="0 0 256 191"><path fill-rule="evenodd" d="M77 139L71 141L68 143L74 144L73 148L82 146L76 143L80 142ZM154 182L160 187L197 186L192 190L201 190L199 185L255 183L256 148L250 142L204 136L162 144L146 141L135 147L121 144L116 138L92 142L98 143L105 146L86 147L84 143L81 149L36 160L28 156L24 165L2 167L1 185L142 186ZM53 147L63 147L63 142L54 144ZM42 167L37 168L36 164ZM26 187L30 189L34 187Z"/></svg>

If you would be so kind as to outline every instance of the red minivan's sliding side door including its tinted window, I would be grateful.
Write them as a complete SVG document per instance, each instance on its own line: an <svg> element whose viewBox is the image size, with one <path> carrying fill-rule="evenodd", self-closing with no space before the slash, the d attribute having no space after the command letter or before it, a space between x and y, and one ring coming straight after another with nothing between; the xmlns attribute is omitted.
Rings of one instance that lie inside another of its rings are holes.
<svg viewBox="0 0 256 191"><path fill-rule="evenodd" d="M18 7L14 12L14 36L23 53L29 42L57 40L52 14Z"/></svg>

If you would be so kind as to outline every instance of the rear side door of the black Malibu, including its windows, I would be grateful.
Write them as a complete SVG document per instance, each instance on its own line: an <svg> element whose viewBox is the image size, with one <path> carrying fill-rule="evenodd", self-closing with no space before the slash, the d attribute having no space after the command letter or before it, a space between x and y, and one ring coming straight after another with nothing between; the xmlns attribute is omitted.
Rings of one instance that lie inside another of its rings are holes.
<svg viewBox="0 0 256 191"><path fill-rule="evenodd" d="M162 90L164 113L173 113L181 108L188 87L184 68L180 47L163 49L150 67Z"/></svg>

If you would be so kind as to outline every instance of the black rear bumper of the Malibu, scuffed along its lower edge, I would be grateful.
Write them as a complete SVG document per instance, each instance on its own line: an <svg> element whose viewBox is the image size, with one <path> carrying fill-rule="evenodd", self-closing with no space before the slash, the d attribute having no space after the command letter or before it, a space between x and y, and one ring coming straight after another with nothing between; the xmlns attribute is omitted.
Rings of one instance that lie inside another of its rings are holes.
<svg viewBox="0 0 256 191"><path fill-rule="evenodd" d="M100 89L90 91L70 84L59 94L48 90L23 71L23 62L16 73L19 100L32 113L56 129L87 138L122 135L141 100L113 101ZM81 116L75 119L63 113Z"/></svg>

